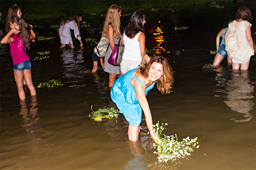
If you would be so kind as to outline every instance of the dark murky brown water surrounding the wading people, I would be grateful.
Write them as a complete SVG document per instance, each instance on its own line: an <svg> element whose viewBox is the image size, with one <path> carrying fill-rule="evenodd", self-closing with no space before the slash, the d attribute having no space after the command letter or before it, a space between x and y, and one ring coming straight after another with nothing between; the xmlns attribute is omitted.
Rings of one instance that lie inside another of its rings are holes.
<svg viewBox="0 0 256 170"><path fill-rule="evenodd" d="M101 124L92 122L88 117L91 105L94 110L114 106L108 75L102 70L90 73L93 45L84 43L85 48L80 49L74 40L75 49L60 50L57 38L36 42L28 55L35 86L50 79L59 79L64 86L37 89L37 99L31 99L26 90L25 103L19 103L9 45L0 46L0 168L255 169L255 56L248 72L233 72L225 59L216 69L202 69L213 62L209 50L216 48L216 34L225 26L222 23L228 22L225 17L213 18L219 16L218 10L207 11L204 18L201 12L190 11L179 16L171 10L146 13L147 48L159 50L175 71L171 94L161 95L156 87L148 93L153 121L168 123L165 133L176 133L180 139L205 136L190 157L157 164L152 141L144 139L143 132L137 145L130 145L128 123L122 115ZM122 16L122 24L128 19ZM83 36L98 38L100 28L91 25L94 29L90 31L82 28ZM174 30L183 25L189 28ZM37 51L50 51L50 58L34 61ZM141 126L146 128L145 119Z"/></svg>

